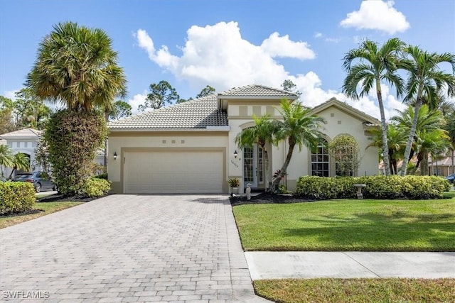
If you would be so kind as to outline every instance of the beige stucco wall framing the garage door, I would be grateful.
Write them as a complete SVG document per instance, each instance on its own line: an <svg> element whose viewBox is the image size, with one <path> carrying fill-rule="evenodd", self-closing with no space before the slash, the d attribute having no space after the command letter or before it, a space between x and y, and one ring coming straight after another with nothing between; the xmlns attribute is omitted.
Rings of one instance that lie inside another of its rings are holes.
<svg viewBox="0 0 455 303"><path fill-rule="evenodd" d="M109 180L112 181L112 192L122 193L122 157L127 151L134 150L223 150L228 146L227 131L191 131L191 132L111 132L109 133ZM117 153L117 160L114 160ZM233 153L233 152L232 152ZM225 156L226 165L228 155ZM233 156L232 156L233 158ZM224 165L226 167L226 165ZM224 172L227 182L228 173ZM228 187L223 184L223 192Z"/></svg>

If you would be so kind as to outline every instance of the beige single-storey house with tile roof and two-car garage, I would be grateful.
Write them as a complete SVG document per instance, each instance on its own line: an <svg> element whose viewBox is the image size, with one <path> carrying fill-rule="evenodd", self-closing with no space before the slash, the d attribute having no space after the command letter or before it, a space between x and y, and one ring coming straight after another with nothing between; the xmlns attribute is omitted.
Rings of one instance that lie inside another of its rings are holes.
<svg viewBox="0 0 455 303"><path fill-rule="evenodd" d="M249 85L229 89L182 104L109 123L108 175L112 192L228 193L228 179L239 178L240 191L247 183L265 189L266 180L282 167L287 142L266 146L269 172L265 176L264 151L259 146L235 145L242 129L254 126L252 114L281 119L279 102L297 99L296 94L272 87ZM327 124L326 141L339 134L353 136L360 146L360 165L354 175L378 174L378 148L367 148L370 128L380 121L330 99L313 109ZM334 176L336 163L321 145L312 153L297 147L284 184L296 189L302 175Z"/></svg>

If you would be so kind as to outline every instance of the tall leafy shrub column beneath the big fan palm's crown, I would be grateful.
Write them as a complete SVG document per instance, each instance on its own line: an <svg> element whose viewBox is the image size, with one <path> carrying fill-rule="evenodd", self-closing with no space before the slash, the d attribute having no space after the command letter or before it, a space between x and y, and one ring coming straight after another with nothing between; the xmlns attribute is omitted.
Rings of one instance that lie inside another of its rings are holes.
<svg viewBox="0 0 455 303"><path fill-rule="evenodd" d="M57 111L44 136L59 192L80 194L92 173L97 149L107 137L105 119L95 112Z"/></svg>

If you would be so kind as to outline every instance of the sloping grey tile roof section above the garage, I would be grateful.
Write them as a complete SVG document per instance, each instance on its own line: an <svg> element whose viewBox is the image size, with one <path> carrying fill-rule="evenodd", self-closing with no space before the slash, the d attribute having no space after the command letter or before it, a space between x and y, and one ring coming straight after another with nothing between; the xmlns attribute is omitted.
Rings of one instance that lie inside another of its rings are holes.
<svg viewBox="0 0 455 303"><path fill-rule="evenodd" d="M218 108L216 94L109 122L109 129L181 129L228 126L228 115Z"/></svg>

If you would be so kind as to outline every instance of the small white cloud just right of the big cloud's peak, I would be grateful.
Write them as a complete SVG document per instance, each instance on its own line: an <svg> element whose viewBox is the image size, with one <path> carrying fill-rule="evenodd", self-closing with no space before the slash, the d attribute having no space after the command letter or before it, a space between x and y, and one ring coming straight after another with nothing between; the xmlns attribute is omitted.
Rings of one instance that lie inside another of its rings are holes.
<svg viewBox="0 0 455 303"><path fill-rule="evenodd" d="M269 38L262 41L262 50L271 57L291 57L300 60L314 59L316 54L309 48L306 42L294 42L289 40L289 35L279 36L274 32Z"/></svg>

